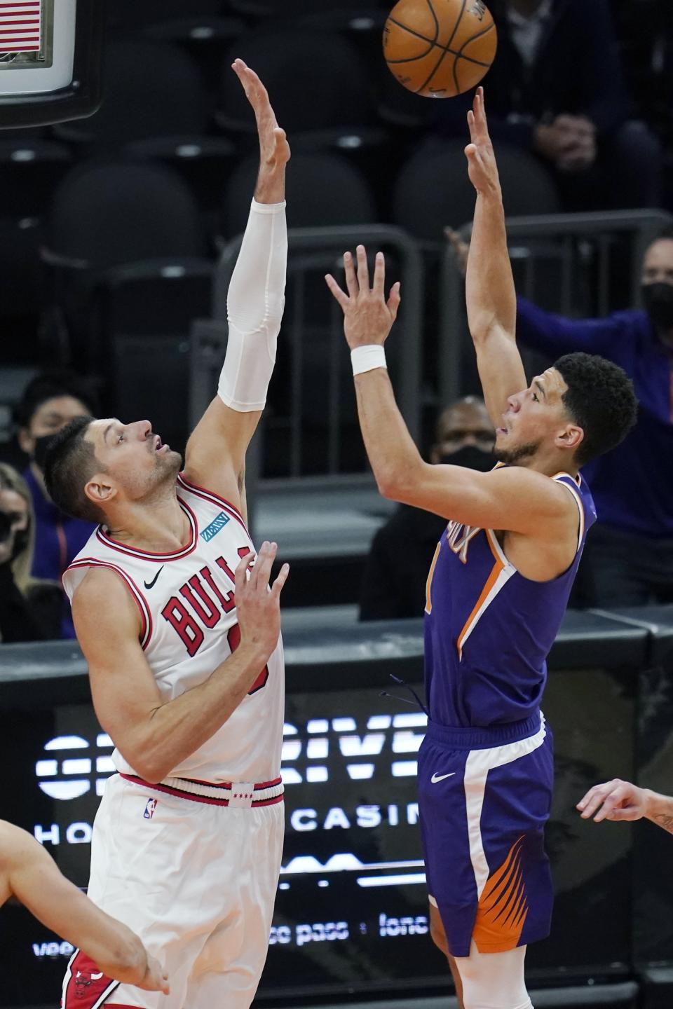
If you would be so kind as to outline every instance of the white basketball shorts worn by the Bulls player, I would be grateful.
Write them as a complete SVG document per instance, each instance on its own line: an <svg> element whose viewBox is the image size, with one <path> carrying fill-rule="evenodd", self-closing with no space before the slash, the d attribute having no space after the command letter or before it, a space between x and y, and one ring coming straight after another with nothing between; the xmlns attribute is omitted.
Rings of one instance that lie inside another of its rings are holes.
<svg viewBox="0 0 673 1009"><path fill-rule="evenodd" d="M96 819L89 896L136 932L171 995L119 984L76 951L64 1009L248 1009L273 913L284 803L231 808L108 779Z"/></svg>

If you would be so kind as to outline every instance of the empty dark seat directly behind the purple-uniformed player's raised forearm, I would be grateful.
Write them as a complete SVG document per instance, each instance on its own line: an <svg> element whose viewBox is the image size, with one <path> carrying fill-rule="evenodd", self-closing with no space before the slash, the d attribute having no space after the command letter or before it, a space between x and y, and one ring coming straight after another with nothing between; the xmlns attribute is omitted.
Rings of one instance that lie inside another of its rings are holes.
<svg viewBox="0 0 673 1009"><path fill-rule="evenodd" d="M475 194L464 146L460 140L431 141L412 154L395 185L396 224L417 238L441 241L445 225L460 227L472 219ZM558 213L556 187L537 158L500 144L497 165L508 216Z"/></svg>

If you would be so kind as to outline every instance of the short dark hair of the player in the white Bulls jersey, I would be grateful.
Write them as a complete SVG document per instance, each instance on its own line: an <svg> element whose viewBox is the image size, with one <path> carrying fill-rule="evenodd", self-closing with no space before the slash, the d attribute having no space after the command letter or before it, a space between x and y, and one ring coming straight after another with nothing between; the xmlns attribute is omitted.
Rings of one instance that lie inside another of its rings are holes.
<svg viewBox="0 0 673 1009"><path fill-rule="evenodd" d="M95 472L105 471L86 440L91 417L76 417L49 442L44 459L46 492L62 512L86 522L103 522L105 516L84 492Z"/></svg>

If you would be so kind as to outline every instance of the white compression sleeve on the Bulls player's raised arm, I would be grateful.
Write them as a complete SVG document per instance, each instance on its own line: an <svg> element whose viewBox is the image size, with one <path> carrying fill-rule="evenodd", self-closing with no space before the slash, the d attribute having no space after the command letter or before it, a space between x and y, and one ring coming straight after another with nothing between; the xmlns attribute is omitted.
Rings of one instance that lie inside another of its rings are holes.
<svg viewBox="0 0 673 1009"><path fill-rule="evenodd" d="M227 293L229 337L218 396L232 410L263 410L285 306L288 227L284 203L252 201Z"/></svg>

